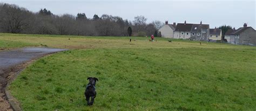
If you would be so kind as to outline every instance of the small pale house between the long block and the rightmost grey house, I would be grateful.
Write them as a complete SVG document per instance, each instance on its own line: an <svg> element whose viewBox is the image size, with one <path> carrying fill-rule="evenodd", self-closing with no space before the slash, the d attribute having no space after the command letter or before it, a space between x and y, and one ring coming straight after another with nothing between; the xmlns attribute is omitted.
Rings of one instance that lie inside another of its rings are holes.
<svg viewBox="0 0 256 111"><path fill-rule="evenodd" d="M215 29L210 29L210 37L209 37L209 40L221 40L221 36L222 36L222 32L221 32L221 29L217 29L215 27Z"/></svg>

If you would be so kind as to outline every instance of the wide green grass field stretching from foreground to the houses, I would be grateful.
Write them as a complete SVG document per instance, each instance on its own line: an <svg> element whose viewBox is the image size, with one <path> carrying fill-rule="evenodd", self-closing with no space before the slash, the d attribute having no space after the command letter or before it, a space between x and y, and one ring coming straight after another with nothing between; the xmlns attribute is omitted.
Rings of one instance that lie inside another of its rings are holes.
<svg viewBox="0 0 256 111"><path fill-rule="evenodd" d="M2 48L72 49L35 61L12 82L11 94L24 110L256 109L256 47L132 39L0 34ZM87 77L99 79L90 107Z"/></svg>

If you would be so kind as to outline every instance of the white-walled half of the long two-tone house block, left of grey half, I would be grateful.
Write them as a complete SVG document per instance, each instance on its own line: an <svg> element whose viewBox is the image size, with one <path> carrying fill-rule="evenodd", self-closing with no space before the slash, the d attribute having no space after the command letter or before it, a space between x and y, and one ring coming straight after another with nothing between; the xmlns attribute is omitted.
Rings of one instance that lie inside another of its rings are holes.
<svg viewBox="0 0 256 111"><path fill-rule="evenodd" d="M186 20L183 23L178 23L176 29L173 33L173 38L175 39L189 39L191 36L191 28L193 24L187 24Z"/></svg>

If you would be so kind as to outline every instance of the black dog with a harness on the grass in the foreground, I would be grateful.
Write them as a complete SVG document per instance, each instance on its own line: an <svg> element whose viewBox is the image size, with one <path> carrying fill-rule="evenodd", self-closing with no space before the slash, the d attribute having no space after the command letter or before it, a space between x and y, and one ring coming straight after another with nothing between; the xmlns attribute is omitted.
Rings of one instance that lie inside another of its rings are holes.
<svg viewBox="0 0 256 111"><path fill-rule="evenodd" d="M96 85L96 81L98 81L98 79L89 77L89 78L87 78L87 80L89 80L89 83L86 86L84 96L86 98L87 105L92 105L93 102L94 102L94 99L96 98L96 87L95 87L95 85ZM91 97L91 102L90 102L90 97Z"/></svg>

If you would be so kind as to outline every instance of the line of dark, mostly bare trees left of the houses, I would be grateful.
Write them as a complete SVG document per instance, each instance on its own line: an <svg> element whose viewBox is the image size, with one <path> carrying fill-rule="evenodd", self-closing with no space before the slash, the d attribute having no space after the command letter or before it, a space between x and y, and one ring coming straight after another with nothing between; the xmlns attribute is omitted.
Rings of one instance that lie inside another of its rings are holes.
<svg viewBox="0 0 256 111"><path fill-rule="evenodd" d="M50 10L31 12L15 4L0 4L0 32L26 34L60 34L77 36L158 36L164 23L146 23L147 18L136 16L133 21L104 14L87 18L85 13L76 16L55 15Z"/></svg>

